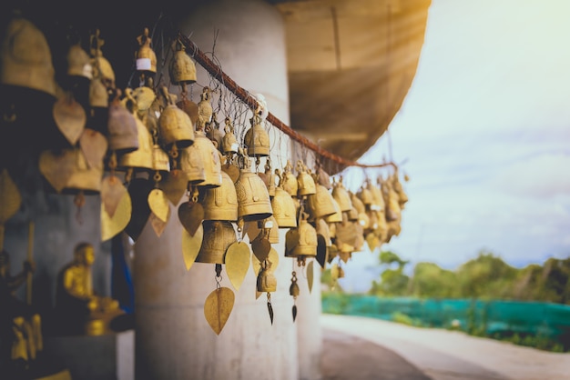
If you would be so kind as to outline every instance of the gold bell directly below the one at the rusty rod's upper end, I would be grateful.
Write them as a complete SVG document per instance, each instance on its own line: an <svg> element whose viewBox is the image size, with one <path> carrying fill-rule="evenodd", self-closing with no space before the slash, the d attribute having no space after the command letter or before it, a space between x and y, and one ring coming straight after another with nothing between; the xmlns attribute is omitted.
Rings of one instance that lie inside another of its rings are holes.
<svg viewBox="0 0 570 380"><path fill-rule="evenodd" d="M158 137L163 145L169 149L173 144L178 148L184 148L194 143L194 125L190 117L178 106L174 105L172 97L168 94L167 87L160 89L160 94L167 102L160 117L158 118Z"/></svg>

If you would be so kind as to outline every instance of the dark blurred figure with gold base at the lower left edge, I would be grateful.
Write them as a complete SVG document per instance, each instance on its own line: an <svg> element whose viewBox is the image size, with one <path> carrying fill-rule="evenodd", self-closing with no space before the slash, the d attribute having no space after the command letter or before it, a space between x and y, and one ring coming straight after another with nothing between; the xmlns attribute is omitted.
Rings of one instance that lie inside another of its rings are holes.
<svg viewBox="0 0 570 380"><path fill-rule="evenodd" d="M22 272L10 275L10 256L4 250L0 252L0 342L3 346L0 363L10 367L7 368L9 373L28 369L43 349L40 315L14 295L34 270L34 262L26 260Z"/></svg>

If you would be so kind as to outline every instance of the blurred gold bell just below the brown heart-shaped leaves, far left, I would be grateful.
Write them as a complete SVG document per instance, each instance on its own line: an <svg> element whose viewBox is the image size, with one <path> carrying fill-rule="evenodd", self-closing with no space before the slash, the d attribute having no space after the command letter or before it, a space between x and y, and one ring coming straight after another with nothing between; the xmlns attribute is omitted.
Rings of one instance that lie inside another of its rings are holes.
<svg viewBox="0 0 570 380"><path fill-rule="evenodd" d="M81 148L74 148L69 152L68 158L75 165L62 194L76 194L78 191L83 191L85 194L99 193L103 180L103 160L97 165L89 165Z"/></svg>

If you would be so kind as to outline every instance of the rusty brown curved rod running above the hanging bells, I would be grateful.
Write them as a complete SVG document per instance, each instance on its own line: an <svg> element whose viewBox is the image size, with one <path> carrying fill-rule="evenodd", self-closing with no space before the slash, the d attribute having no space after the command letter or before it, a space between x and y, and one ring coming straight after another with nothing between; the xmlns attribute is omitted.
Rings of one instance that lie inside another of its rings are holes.
<svg viewBox="0 0 570 380"><path fill-rule="evenodd" d="M243 87L239 86L233 79L231 79L228 75L226 75L220 68L219 65L214 64L209 57L204 54L193 41L191 41L186 35L178 32L178 38L182 45L184 45L187 49L188 54L192 55L196 62L199 65L204 67L206 71L209 72L214 78L216 78L222 85L229 89L229 91L236 95L239 100L241 100L245 105L248 105L251 110L255 110L258 107L258 100L255 96L250 95L247 90ZM392 166L396 167L396 165L392 162L384 162L382 164L361 164L356 161L351 161L346 158L341 157L340 155L335 155L329 152L326 149L321 148L321 146L316 145L312 141L310 141L307 137L300 135L296 131L290 128L289 125L286 125L279 118L275 115L269 113L267 115L266 120L274 125L276 128L280 129L285 135L289 135L291 139L300 143L313 152L316 155L320 155L321 157L327 158L339 166L358 166L358 167L385 167L385 166Z"/></svg>

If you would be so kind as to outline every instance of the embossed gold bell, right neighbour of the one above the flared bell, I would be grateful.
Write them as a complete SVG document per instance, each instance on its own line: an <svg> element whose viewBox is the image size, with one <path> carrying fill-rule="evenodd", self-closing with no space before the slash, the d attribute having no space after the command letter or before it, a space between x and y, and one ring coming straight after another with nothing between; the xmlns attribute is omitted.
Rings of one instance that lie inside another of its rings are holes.
<svg viewBox="0 0 570 380"><path fill-rule="evenodd" d="M273 215L270 194L259 175L241 169L236 186L238 217L245 222L267 219Z"/></svg>

